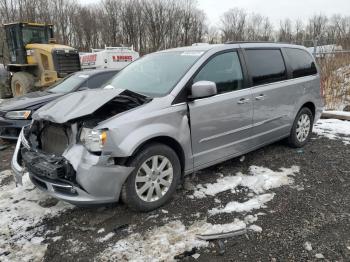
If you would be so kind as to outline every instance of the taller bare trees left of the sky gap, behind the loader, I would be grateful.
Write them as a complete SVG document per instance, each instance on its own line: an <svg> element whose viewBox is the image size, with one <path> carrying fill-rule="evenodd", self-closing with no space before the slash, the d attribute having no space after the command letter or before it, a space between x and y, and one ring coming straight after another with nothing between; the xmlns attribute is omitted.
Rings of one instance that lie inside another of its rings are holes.
<svg viewBox="0 0 350 262"><path fill-rule="evenodd" d="M52 23L56 40L81 51L133 46L141 53L201 42L205 14L192 0L0 0L0 22Z"/></svg>

